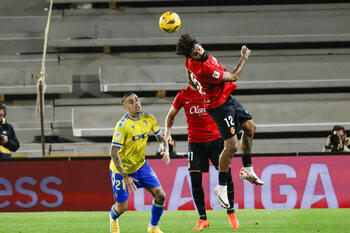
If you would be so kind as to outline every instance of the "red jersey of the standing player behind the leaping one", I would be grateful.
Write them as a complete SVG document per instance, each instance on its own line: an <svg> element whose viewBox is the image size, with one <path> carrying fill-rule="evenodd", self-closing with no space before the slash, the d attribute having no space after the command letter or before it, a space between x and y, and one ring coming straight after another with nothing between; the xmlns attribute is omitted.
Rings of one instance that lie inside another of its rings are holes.
<svg viewBox="0 0 350 233"><path fill-rule="evenodd" d="M182 89L175 97L173 107L184 107L187 118L188 142L209 142L220 138L216 123L205 111L204 98L190 86Z"/></svg>

